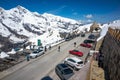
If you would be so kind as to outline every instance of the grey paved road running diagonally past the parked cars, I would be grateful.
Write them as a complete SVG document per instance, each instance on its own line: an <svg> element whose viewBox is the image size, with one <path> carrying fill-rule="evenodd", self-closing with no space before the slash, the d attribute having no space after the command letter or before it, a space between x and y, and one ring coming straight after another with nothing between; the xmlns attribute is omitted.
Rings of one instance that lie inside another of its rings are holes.
<svg viewBox="0 0 120 80"><path fill-rule="evenodd" d="M4 77L2 80L41 80L46 76L50 76L52 80L59 80L54 73L55 66L62 62L66 57L71 56L68 53L68 50L70 49L76 48L78 50L82 50L82 52L87 55L89 49L80 47L79 44L82 43L84 39L88 37L88 35L89 34L86 34L85 37L77 37L73 40L59 44L61 46L60 52L57 50L58 45L53 47L44 55L36 58L21 69ZM74 42L77 43L76 47L73 45ZM83 60L84 58L85 56L83 56Z"/></svg>

